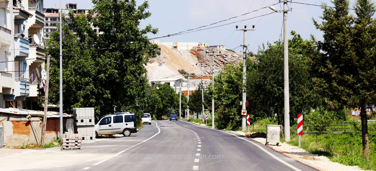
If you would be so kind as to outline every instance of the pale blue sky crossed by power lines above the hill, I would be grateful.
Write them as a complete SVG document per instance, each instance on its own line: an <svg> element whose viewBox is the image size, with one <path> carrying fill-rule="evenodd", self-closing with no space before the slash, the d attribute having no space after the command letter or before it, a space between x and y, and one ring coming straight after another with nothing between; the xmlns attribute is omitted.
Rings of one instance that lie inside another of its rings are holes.
<svg viewBox="0 0 376 171"><path fill-rule="evenodd" d="M208 42L209 45L225 45L226 49L243 53L243 48L240 47L240 45L243 45L243 31L235 31L235 26L238 25L239 28L244 28L244 25L247 25L247 28L251 28L252 25L255 25L255 30L247 32L247 45L249 45L249 51L257 53L259 46L267 42L273 43L279 40L283 34L283 13L274 12L269 14L273 11L269 8L264 8L272 5L280 11L283 9L283 3L278 3L278 1L279 0L150 0L148 2L149 12L151 12L152 15L146 20L141 21L141 28L144 28L148 24L158 28L159 32L156 35L147 34L148 38L156 38L255 11L212 25L219 26L221 24L238 21L226 26L159 38L157 40L162 42ZM136 0L136 2L140 5L144 0ZM333 6L330 0L294 0L293 2L315 5L326 3L328 6ZM63 7L66 3L77 3L77 8L79 9L92 9L93 6L91 0L80 0L79 2L76 0L61 0ZM353 7L354 3L355 0L350 0L350 8ZM321 23L320 16L322 16L323 10L320 7L297 3L288 3L288 7L292 9L292 11L288 12L287 26L289 33L291 30L294 30L296 33L300 34L303 39L309 39L312 34L316 39L322 40L323 33L315 29L312 22L312 18L314 18ZM59 8L59 1L45 0L44 8ZM259 17L261 15L265 16Z"/></svg>

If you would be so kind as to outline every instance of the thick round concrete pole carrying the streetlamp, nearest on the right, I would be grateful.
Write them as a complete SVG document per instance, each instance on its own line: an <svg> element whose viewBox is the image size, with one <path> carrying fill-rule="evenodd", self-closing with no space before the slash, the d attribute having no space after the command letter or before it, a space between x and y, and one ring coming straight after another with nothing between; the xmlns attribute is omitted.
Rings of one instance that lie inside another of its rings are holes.
<svg viewBox="0 0 376 171"><path fill-rule="evenodd" d="M290 93L288 83L288 34L287 34L287 0L283 2L283 77L284 77L284 121L285 121L285 142L290 141Z"/></svg>

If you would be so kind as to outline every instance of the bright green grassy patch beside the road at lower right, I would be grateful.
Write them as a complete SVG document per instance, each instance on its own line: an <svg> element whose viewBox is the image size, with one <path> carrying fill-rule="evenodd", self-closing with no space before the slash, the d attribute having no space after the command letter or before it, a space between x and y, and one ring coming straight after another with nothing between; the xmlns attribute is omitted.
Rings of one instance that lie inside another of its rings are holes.
<svg viewBox="0 0 376 171"><path fill-rule="evenodd" d="M376 171L376 131L371 126L368 130L370 158L363 159L361 133L302 135L301 147L309 153L326 156L333 162L348 166L359 166L362 169ZM288 144L299 146L299 136L291 134Z"/></svg>

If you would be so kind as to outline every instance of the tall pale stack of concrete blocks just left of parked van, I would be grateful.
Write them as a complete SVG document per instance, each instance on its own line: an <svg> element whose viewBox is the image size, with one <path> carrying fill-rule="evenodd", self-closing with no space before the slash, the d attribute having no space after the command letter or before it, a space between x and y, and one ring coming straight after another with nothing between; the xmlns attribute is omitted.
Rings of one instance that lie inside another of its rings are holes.
<svg viewBox="0 0 376 171"><path fill-rule="evenodd" d="M74 133L82 135L82 142L95 142L94 108L73 108Z"/></svg>

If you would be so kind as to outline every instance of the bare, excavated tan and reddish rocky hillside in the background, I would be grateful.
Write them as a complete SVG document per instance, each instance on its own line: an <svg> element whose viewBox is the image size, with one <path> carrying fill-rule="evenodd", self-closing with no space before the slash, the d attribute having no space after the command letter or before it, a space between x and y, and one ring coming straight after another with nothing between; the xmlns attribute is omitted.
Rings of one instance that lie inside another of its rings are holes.
<svg viewBox="0 0 376 171"><path fill-rule="evenodd" d="M212 56L211 53L220 53L220 50L211 48L195 47L191 50L173 50L164 45L159 45L161 55L151 59L146 65L147 78L149 80L162 78L183 78L178 70L185 70L188 73L200 75L200 63L203 65L203 75L211 75ZM220 55L214 56L214 72L223 69L228 62L237 64L241 62L240 54L221 50ZM159 66L162 64L162 66Z"/></svg>

